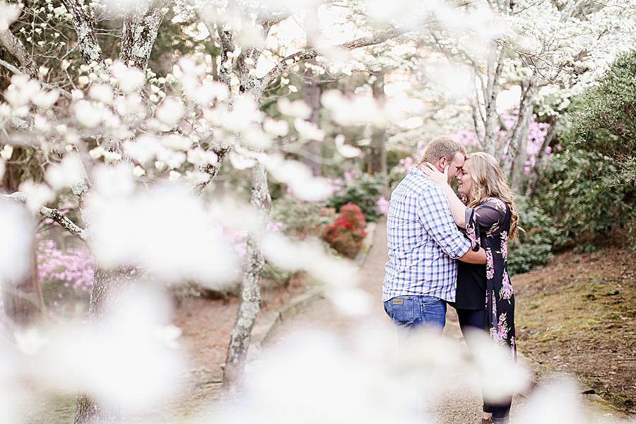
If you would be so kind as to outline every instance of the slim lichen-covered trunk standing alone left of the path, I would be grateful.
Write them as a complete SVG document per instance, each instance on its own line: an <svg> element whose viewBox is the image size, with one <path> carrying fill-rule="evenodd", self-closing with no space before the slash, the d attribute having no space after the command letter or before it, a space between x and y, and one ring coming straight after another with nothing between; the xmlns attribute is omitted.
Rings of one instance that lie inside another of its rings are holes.
<svg viewBox="0 0 636 424"><path fill-rule="evenodd" d="M252 205L259 211L261 220L260 231L266 228L271 209L271 197L267 185L267 172L261 163L252 168ZM225 359L223 384L227 387L236 382L245 370L247 348L252 327L256 322L261 308L261 271L264 266L263 254L259 247L261 234L250 234L247 237L247 252L245 254L246 268L241 285L241 305L239 307L228 356Z"/></svg>

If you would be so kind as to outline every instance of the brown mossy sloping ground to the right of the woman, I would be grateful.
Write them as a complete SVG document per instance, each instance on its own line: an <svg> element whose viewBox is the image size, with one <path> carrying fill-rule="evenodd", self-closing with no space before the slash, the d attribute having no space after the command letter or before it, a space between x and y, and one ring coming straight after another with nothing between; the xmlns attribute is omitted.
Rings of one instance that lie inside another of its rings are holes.
<svg viewBox="0 0 636 424"><path fill-rule="evenodd" d="M622 249L557 255L512 278L519 350L577 375L636 413L636 255Z"/></svg>

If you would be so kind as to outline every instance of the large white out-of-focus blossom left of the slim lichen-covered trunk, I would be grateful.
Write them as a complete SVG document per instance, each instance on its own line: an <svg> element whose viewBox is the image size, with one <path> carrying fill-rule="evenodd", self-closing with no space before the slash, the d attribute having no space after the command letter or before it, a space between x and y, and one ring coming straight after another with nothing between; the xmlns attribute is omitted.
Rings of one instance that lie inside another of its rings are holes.
<svg viewBox="0 0 636 424"><path fill-rule="evenodd" d="M112 187L103 186L101 181L95 184L87 199L91 247L102 266L136 265L160 281L197 281L212 287L237 276L232 248L189 189L159 184L115 197L110 195Z"/></svg>

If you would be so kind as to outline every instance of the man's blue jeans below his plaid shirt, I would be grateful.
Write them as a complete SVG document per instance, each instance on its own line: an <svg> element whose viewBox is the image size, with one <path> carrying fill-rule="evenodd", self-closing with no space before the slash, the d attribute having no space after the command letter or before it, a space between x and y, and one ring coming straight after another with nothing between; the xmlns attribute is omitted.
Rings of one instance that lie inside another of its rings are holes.
<svg viewBox="0 0 636 424"><path fill-rule="evenodd" d="M384 302L384 311L400 333L428 329L442 334L446 324L446 301L435 296L396 296Z"/></svg>

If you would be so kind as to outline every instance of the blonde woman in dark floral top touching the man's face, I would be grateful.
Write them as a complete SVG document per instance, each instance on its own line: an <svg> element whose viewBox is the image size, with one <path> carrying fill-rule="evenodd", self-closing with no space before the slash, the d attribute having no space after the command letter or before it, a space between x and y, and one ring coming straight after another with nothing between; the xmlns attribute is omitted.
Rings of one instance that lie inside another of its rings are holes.
<svg viewBox="0 0 636 424"><path fill-rule="evenodd" d="M447 175L427 165L420 165L420 170L448 197L455 223L466 228L473 249L480 245L486 252L485 265L459 262L455 308L461 331L486 330L495 343L509 346L516 358L514 294L507 269L508 240L517 236L519 222L514 195L497 160L488 153L466 156L457 177L464 203L449 186ZM497 405L484 401L482 423L507 423L511 403L512 399Z"/></svg>

